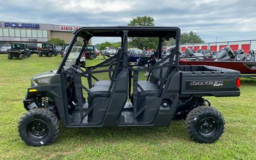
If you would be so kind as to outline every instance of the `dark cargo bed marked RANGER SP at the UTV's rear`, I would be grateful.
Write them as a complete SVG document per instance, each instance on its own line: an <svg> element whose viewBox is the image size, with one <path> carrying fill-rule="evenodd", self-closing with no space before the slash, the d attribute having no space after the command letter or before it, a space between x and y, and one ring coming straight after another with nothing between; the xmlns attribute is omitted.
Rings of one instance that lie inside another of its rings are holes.
<svg viewBox="0 0 256 160"><path fill-rule="evenodd" d="M181 94L195 96L240 96L240 72L212 66L180 66Z"/></svg>

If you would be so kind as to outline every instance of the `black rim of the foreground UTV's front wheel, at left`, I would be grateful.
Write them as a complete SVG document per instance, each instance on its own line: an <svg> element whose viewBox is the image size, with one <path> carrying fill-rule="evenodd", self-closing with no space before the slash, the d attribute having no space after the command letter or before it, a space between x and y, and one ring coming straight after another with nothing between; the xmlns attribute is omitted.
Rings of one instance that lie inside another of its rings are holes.
<svg viewBox="0 0 256 160"><path fill-rule="evenodd" d="M28 135L31 138L42 139L48 134L48 127L42 120L36 119L28 124Z"/></svg>

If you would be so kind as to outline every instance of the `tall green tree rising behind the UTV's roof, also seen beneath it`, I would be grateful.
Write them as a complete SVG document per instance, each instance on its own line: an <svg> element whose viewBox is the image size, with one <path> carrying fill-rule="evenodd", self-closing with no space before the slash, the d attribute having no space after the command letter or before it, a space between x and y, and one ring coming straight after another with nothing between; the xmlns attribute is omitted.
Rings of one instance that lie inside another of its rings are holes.
<svg viewBox="0 0 256 160"><path fill-rule="evenodd" d="M137 16L130 20L128 26L154 26L154 18L150 16ZM129 38L130 47L137 47L139 49L157 49L158 38L152 37L132 37Z"/></svg>

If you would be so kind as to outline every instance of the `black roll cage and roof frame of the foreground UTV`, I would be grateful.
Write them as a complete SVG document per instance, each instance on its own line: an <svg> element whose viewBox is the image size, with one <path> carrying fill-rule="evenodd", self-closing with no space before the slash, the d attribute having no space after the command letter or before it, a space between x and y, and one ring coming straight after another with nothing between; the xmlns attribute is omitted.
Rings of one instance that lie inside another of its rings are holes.
<svg viewBox="0 0 256 160"><path fill-rule="evenodd" d="M76 39L78 37L83 39L84 45L83 49L80 52L79 57L77 58L76 64L79 63L79 58L81 58L83 52L86 50L86 45L89 40L94 36L101 37L121 37L121 50L125 52L127 55L128 52L128 38L129 37L158 37L159 38L159 46L158 53L159 58L161 58L161 46L162 40L174 38L176 39L176 47L175 50L179 50L179 39L180 39L180 29L177 27L82 27L79 30L74 32L74 37L71 41L70 47L66 51L66 56L64 56L61 61L60 66L57 69L57 74L60 74L65 62L68 58L69 53L71 52L72 47L74 46ZM176 52L176 67L178 71L179 67L179 53ZM124 61L125 66L127 67L127 56Z"/></svg>

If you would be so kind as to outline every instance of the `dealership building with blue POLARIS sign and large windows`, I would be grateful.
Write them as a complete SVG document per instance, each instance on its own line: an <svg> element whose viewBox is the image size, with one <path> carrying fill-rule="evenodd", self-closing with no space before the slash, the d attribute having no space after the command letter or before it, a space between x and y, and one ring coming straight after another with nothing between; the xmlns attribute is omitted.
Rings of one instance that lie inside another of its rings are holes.
<svg viewBox="0 0 256 160"><path fill-rule="evenodd" d="M47 42L60 38L68 44L81 26L0 21L0 42Z"/></svg>

